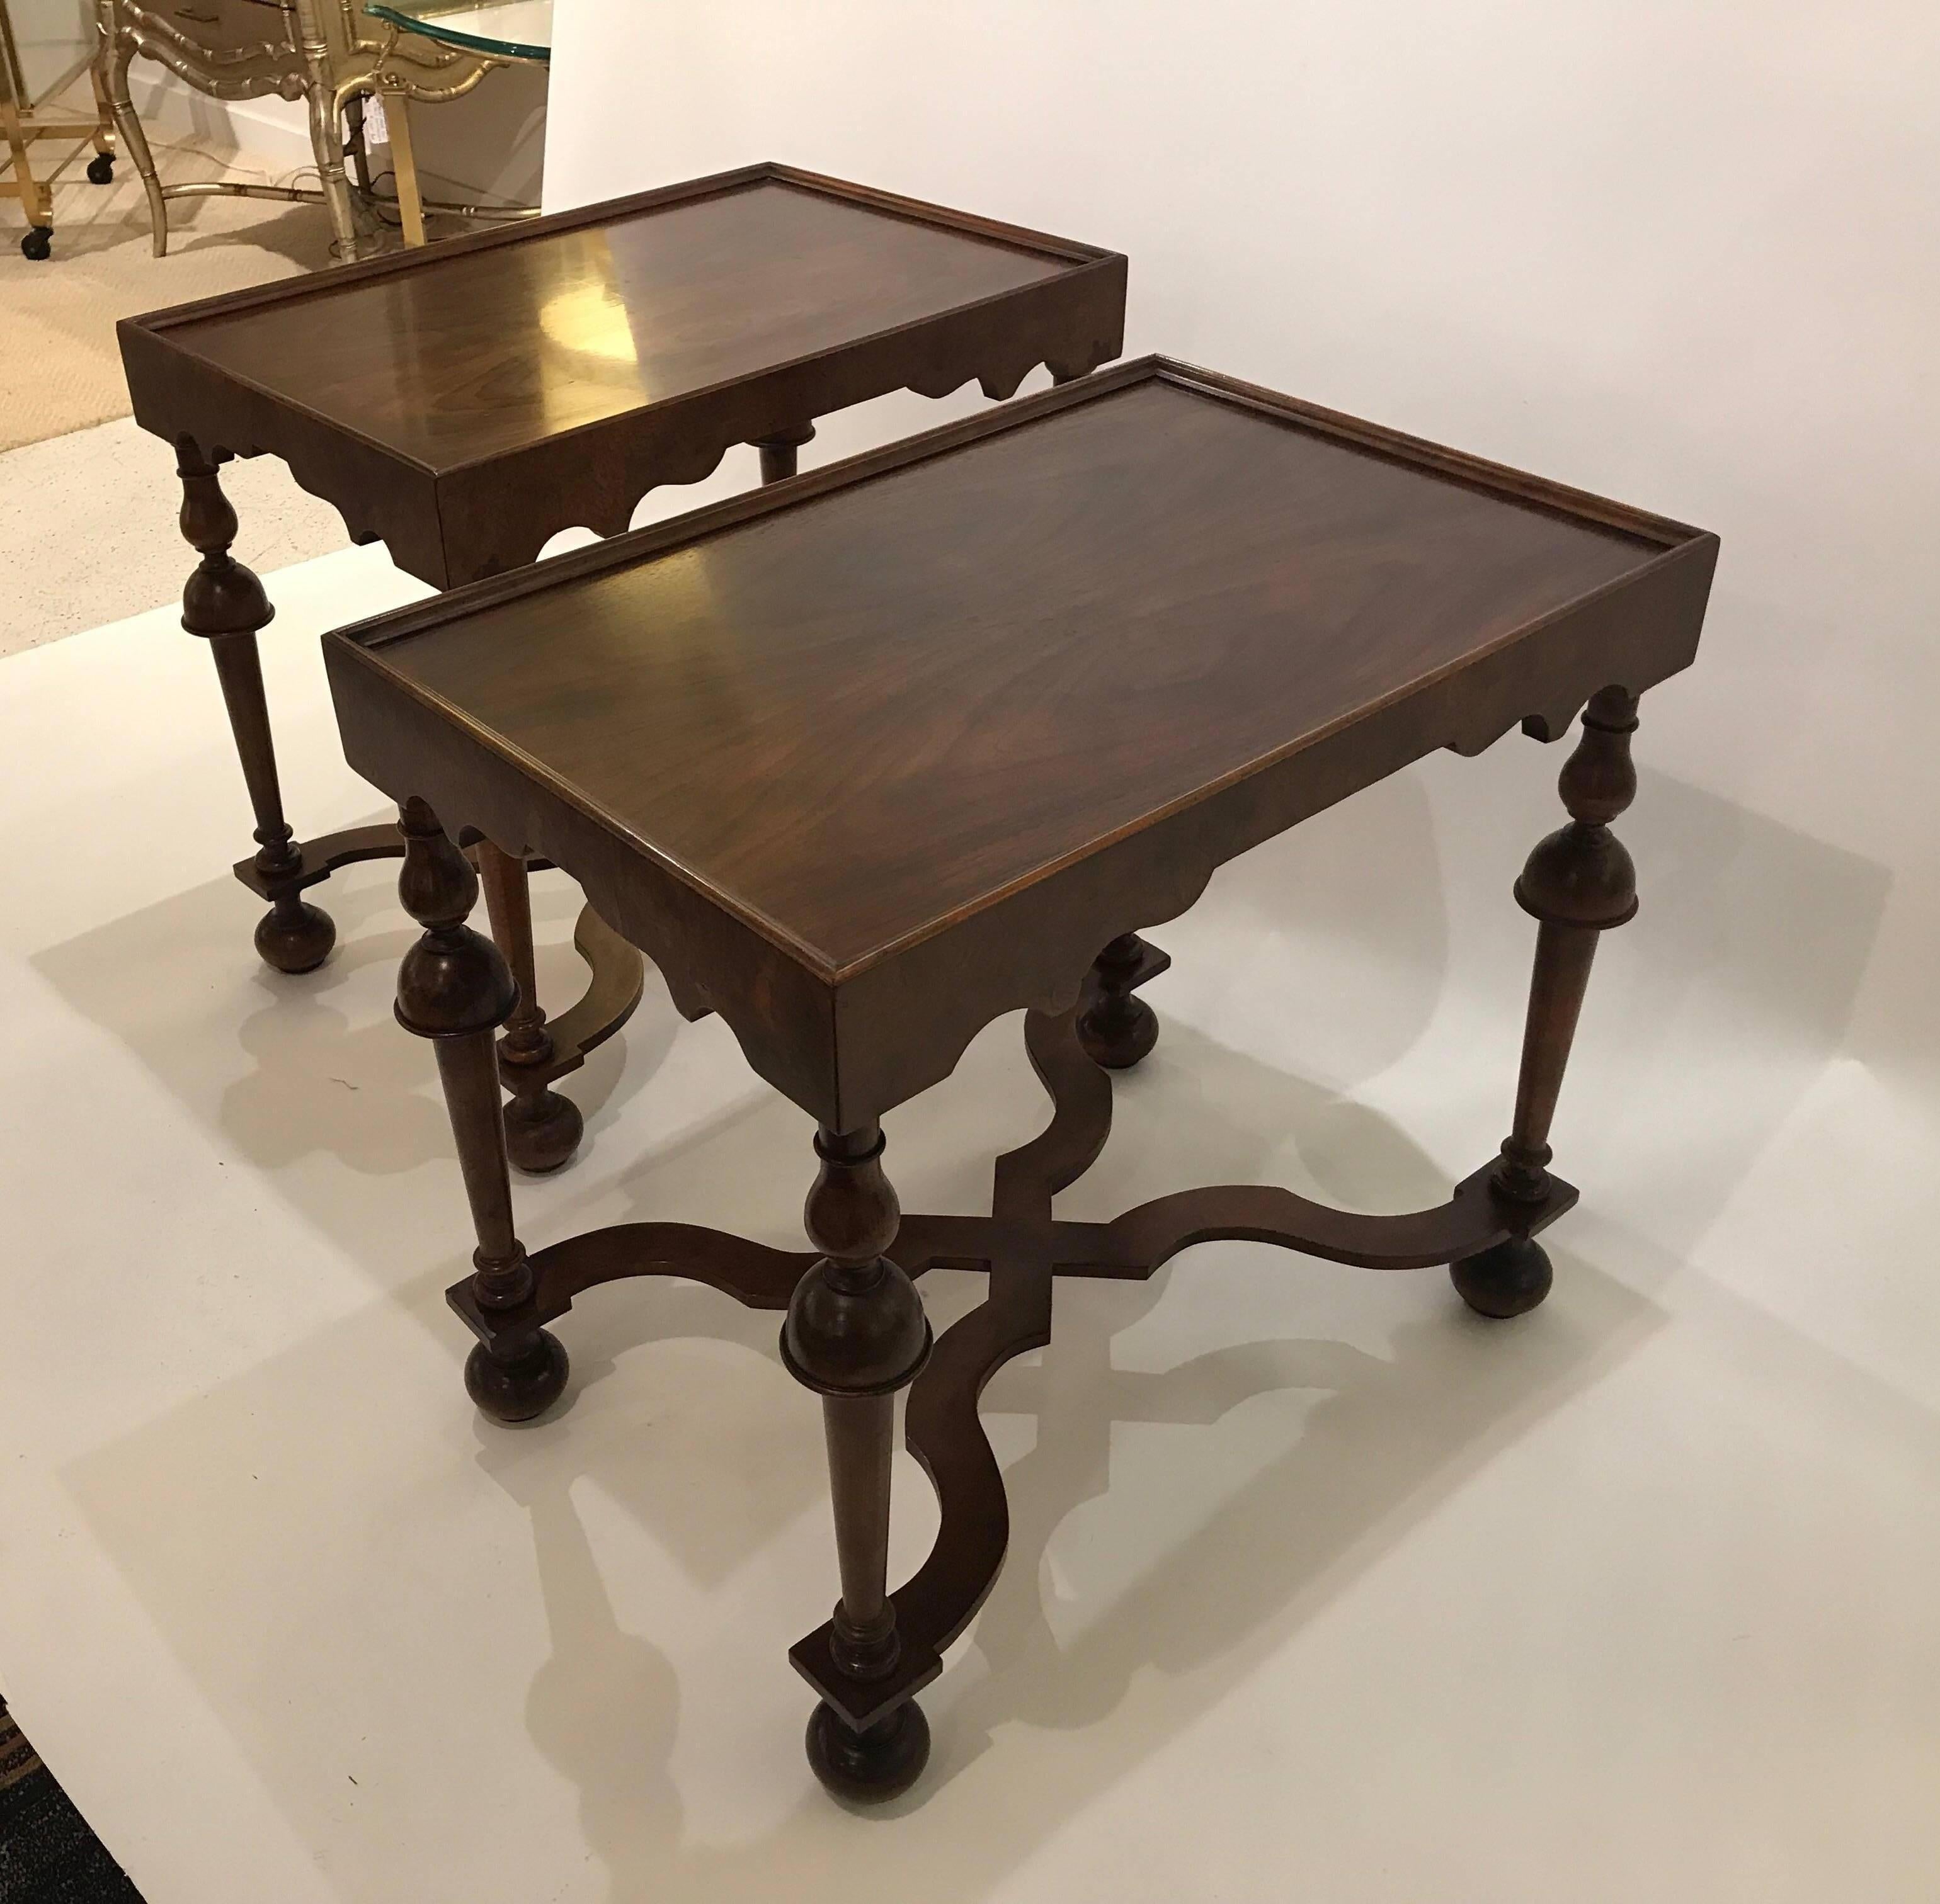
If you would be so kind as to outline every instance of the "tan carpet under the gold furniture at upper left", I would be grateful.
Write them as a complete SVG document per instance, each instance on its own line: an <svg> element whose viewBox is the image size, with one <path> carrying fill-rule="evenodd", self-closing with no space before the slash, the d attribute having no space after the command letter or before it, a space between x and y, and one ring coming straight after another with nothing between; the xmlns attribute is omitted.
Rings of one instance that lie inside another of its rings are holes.
<svg viewBox="0 0 1940 1904"><path fill-rule="evenodd" d="M52 149L52 147L41 147ZM322 206L188 198L169 206L169 256L149 252L147 200L120 157L114 184L83 176L87 153L54 188L54 256L19 254L17 209L0 223L0 450L128 415L114 320L312 271L330 262ZM155 145L165 182L270 180L244 159ZM295 180L307 182L307 180Z"/></svg>

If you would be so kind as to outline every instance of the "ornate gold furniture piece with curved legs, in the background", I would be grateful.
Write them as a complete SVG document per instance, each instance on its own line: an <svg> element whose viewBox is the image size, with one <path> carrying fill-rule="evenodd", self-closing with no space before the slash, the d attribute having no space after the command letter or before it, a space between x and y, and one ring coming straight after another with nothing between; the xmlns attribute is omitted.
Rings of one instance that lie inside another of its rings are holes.
<svg viewBox="0 0 1940 1904"><path fill-rule="evenodd" d="M473 10L477 12L477 10ZM409 101L433 103L469 93L497 66L524 52L487 52L431 37L398 17L376 19L359 0L97 0L99 83L114 126L147 190L155 256L169 248L169 200L272 198L322 204L330 213L332 250L341 260L371 248L374 223L359 221L359 200L372 207L363 155L365 101L384 101L392 167L405 242L425 242L425 209L466 217L532 217L530 206L425 206L411 145ZM318 186L274 186L246 180L196 180L165 186L142 122L128 97L128 64L157 60L178 79L215 99L274 93L301 99L310 114ZM345 140L345 120L349 138ZM353 188L351 167L357 182Z"/></svg>

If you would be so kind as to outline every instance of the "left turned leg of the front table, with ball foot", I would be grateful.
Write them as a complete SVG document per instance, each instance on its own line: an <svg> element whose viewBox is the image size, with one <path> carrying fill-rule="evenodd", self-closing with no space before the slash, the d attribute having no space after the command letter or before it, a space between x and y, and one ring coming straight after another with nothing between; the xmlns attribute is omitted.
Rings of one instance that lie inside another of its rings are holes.
<svg viewBox="0 0 1940 1904"><path fill-rule="evenodd" d="M398 968L398 1024L436 1045L477 1231L473 1295L481 1309L510 1311L532 1299L532 1264L512 1229L495 1033L518 1004L518 987L499 948L466 925L479 896L477 874L436 814L423 801L405 801L398 824L404 832L398 898L425 929ZM566 1351L543 1328L502 1332L491 1348L483 1342L473 1348L466 1361L471 1400L499 1421L537 1415L565 1386Z"/></svg>

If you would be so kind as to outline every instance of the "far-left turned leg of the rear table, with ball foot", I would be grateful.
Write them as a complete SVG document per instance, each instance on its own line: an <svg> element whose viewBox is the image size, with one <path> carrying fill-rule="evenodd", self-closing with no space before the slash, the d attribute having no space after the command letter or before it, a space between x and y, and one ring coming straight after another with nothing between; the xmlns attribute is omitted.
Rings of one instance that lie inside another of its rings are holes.
<svg viewBox="0 0 1940 1904"><path fill-rule="evenodd" d="M202 555L202 562L182 589L182 626L210 644L215 677L229 708L229 729L242 762L250 807L256 809L256 871L272 894L270 911L256 927L256 950L277 971L310 971L336 944L330 915L303 898L295 874L303 851L283 820L283 789L275 779L275 745L270 739L270 708L262 696L262 659L256 630L268 626L275 609L254 572L229 555L237 537L237 512L223 494L219 452L206 458L186 438L177 446L175 473L182 479L182 535ZM287 890L275 882L289 876Z"/></svg>

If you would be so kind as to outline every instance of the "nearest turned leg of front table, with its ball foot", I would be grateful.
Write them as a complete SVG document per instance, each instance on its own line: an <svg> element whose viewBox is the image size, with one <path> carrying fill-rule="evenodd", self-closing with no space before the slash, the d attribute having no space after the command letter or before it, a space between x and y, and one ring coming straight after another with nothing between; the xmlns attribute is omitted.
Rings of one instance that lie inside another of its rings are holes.
<svg viewBox="0 0 1940 1904"><path fill-rule="evenodd" d="M809 1241L823 1251L797 1284L782 1328L790 1373L823 1398L828 1487L834 1497L842 1600L834 1613L836 1666L856 1679L894 1669L900 1642L889 1600L889 1464L896 1390L929 1355L929 1324L916 1285L883 1253L900 1210L883 1175L883 1130L826 1127L809 1190ZM830 1792L887 1799L906 1792L929 1759L929 1724L914 1698L867 1731L828 1704L809 1720L809 1764Z"/></svg>

